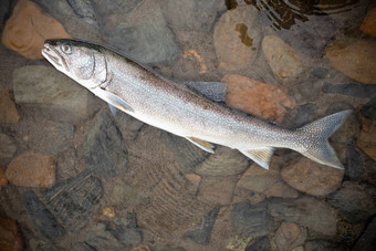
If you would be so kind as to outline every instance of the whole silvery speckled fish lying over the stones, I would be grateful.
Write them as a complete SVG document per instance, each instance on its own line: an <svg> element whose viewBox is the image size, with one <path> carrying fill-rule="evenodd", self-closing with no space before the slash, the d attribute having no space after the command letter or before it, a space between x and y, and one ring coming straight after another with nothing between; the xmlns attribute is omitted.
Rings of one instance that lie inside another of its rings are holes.
<svg viewBox="0 0 376 251"><path fill-rule="evenodd" d="M269 169L274 149L289 148L318 164L344 168L328 138L351 109L299 128L284 128L205 97L100 44L46 40L42 54L58 71L109 105L208 153L215 153L213 144L222 145Z"/></svg>

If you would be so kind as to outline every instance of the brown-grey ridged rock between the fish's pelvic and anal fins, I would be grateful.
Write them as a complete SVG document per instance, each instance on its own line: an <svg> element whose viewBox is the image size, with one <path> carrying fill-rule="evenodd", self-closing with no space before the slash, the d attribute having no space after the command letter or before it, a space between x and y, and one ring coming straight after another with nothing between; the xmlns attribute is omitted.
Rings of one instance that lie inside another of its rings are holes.
<svg viewBox="0 0 376 251"><path fill-rule="evenodd" d="M201 176L230 176L242 172L248 167L248 159L238 150L219 147L216 154L195 167Z"/></svg>

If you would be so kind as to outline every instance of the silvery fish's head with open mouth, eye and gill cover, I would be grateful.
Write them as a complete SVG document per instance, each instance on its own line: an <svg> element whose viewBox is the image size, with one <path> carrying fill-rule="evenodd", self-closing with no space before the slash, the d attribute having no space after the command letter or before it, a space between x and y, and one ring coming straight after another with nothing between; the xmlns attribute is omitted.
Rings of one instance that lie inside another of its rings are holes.
<svg viewBox="0 0 376 251"><path fill-rule="evenodd" d="M104 48L75 40L46 40L42 55L59 71L86 88L107 80Z"/></svg>

